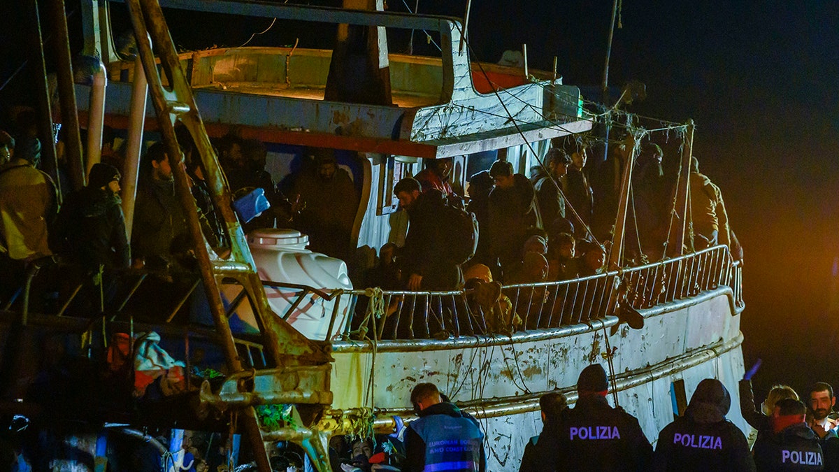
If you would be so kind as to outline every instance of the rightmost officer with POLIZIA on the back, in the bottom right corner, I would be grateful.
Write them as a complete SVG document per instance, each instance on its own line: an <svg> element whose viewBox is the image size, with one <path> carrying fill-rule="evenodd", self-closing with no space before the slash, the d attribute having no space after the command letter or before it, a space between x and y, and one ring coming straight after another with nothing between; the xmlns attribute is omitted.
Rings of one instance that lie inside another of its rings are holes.
<svg viewBox="0 0 839 472"><path fill-rule="evenodd" d="M819 437L805 422L804 403L785 398L775 403L772 414L774 434L754 443L754 462L758 472L775 470L824 470Z"/></svg>

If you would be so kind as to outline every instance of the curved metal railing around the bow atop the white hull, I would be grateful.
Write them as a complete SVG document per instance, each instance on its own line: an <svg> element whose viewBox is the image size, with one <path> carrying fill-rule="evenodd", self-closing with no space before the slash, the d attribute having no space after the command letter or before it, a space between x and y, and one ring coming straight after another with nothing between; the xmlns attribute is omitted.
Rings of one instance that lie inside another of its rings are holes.
<svg viewBox="0 0 839 472"><path fill-rule="evenodd" d="M463 291L324 291L324 295L334 307L350 297L354 307L343 329L330 329L332 339L446 339L587 323L618 314L618 307L649 309L720 286L732 288L739 309L743 307L741 284L741 265L732 260L727 246L720 245L570 281L502 286L500 296L490 294L488 300L481 287ZM273 285L278 286L276 282ZM334 310L331 327L336 313Z"/></svg>

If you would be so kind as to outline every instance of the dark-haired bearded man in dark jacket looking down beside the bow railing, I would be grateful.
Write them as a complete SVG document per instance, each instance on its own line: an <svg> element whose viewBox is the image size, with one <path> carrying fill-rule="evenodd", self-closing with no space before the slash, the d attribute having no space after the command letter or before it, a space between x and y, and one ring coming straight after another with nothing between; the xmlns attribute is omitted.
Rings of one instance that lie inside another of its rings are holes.
<svg viewBox="0 0 839 472"><path fill-rule="evenodd" d="M422 192L420 182L405 178L393 193L399 206L408 211L410 226L402 249L403 276L412 291L454 290L463 283L461 268L440 249L451 244L440 218L446 207L443 194L436 189Z"/></svg>

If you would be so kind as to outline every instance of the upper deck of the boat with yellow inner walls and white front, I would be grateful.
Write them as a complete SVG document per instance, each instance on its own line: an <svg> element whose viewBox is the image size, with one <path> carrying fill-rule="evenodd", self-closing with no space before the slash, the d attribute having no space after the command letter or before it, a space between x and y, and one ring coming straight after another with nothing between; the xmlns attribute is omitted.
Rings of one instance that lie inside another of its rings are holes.
<svg viewBox="0 0 839 472"><path fill-rule="evenodd" d="M231 2L164 1L164 7L218 13ZM420 158L467 155L591 128L577 87L524 70L470 62L453 18L245 2L237 13L267 18L426 29L440 57L389 54L393 106L326 101L331 50L227 48L180 55L210 134L235 124L243 137L282 144ZM244 10L242 10L244 8ZM126 128L133 64L108 66L106 123ZM165 77L164 77L165 83ZM86 93L78 93L87 109ZM149 113L150 114L150 113ZM151 124L151 123L149 123Z"/></svg>

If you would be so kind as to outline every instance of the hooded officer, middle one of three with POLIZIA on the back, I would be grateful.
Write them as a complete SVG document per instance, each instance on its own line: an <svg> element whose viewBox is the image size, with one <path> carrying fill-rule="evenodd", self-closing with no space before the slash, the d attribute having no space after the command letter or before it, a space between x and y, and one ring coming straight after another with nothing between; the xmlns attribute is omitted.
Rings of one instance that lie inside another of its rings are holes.
<svg viewBox="0 0 839 472"><path fill-rule="evenodd" d="M702 380L685 415L659 433L654 470L754 470L746 437L726 419L731 405L721 381Z"/></svg>

